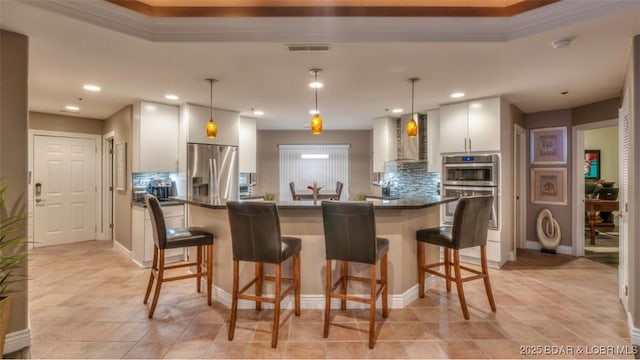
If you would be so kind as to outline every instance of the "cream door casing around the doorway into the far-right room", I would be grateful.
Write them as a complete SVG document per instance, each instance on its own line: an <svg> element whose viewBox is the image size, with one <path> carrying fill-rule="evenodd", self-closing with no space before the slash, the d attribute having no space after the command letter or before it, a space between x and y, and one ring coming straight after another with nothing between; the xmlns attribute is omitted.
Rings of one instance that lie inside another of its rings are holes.
<svg viewBox="0 0 640 360"><path fill-rule="evenodd" d="M617 126L618 119L596 121L571 127L573 189L571 190L573 211L571 223L573 224L573 255L584 256L584 132L587 130L601 129Z"/></svg>

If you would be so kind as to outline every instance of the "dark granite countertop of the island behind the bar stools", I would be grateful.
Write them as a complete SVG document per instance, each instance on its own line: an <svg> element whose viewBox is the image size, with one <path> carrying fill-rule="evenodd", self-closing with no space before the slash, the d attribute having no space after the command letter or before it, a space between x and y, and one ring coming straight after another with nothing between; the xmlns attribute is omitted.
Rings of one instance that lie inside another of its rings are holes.
<svg viewBox="0 0 640 360"><path fill-rule="evenodd" d="M208 198L188 199L186 197L172 197L171 200L185 203L190 205L202 206L210 209L226 209L227 206L223 201L218 199L210 200ZM456 201L456 197L441 197L441 196L428 196L428 197L416 197L410 199L376 199L370 200L374 204L376 209L423 209L430 206L436 206L445 204L448 202ZM298 201L278 201L278 208L280 209L315 209L320 208L321 201L313 202L313 200L298 200Z"/></svg>

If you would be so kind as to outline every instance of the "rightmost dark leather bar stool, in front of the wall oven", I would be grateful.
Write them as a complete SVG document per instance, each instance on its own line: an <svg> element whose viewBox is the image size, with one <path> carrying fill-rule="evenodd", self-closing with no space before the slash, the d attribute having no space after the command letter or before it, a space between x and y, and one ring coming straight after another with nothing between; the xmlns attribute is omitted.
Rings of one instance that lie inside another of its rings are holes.
<svg viewBox="0 0 640 360"><path fill-rule="evenodd" d="M453 215L453 226L441 226L416 231L416 239L418 240L418 288L420 297L424 297L424 280L426 273L444 278L447 283L447 292L451 291L451 281L455 281L462 314L467 320L469 320L469 309L467 308L467 302L464 298L463 282L484 279L484 288L487 292L489 305L492 311L496 311L496 303L493 299L491 282L489 281L489 271L487 269L486 250L492 203L493 196L461 198L458 200L458 205ZM444 262L425 264L423 243L442 246L444 248ZM481 271L460 265L459 250L476 246L480 246ZM452 250L453 263L451 262ZM442 265L444 265L444 274L431 269ZM454 270L453 276L451 275L451 266L453 266ZM461 270L466 270L473 275L463 278Z"/></svg>

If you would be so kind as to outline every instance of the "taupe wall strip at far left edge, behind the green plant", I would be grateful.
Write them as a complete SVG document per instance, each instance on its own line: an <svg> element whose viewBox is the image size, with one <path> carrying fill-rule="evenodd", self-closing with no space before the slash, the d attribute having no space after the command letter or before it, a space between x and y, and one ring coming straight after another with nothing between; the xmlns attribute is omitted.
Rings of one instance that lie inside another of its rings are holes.
<svg viewBox="0 0 640 360"><path fill-rule="evenodd" d="M27 209L29 39L0 30L0 178L8 186L7 208ZM25 223L17 235L27 235ZM26 249L26 246L25 246ZM27 274L24 263L16 274ZM28 328L27 282L12 285L15 290L8 333ZM7 350L7 349L5 349Z"/></svg>

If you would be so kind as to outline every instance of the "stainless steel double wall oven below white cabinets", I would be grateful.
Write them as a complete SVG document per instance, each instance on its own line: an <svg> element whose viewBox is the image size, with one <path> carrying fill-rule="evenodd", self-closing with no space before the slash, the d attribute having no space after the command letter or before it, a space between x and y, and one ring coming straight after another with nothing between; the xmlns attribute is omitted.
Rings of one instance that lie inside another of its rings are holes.
<svg viewBox="0 0 640 360"><path fill-rule="evenodd" d="M492 195L493 207L489 218L489 227L498 228L500 185L500 155L465 154L445 155L442 157L442 195L478 196ZM443 222L453 223L453 214L458 202L444 206Z"/></svg>

